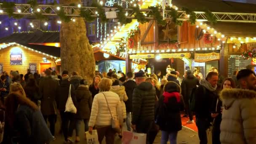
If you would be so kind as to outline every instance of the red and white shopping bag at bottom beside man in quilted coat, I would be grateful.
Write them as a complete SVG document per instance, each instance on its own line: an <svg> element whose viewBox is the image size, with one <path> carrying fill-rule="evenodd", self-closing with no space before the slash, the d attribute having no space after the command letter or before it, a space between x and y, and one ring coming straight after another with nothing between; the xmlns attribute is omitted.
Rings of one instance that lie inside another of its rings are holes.
<svg viewBox="0 0 256 144"><path fill-rule="evenodd" d="M135 133L131 131L123 131L122 144L146 144L146 133Z"/></svg>

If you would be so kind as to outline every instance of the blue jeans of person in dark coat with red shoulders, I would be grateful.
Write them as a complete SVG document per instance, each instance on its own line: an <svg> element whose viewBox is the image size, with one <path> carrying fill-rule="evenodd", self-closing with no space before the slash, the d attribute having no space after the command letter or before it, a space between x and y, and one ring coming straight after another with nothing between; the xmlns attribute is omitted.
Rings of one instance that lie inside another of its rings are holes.
<svg viewBox="0 0 256 144"><path fill-rule="evenodd" d="M168 139L170 139L170 144L177 144L177 134L178 131L162 131L161 144L167 144Z"/></svg>

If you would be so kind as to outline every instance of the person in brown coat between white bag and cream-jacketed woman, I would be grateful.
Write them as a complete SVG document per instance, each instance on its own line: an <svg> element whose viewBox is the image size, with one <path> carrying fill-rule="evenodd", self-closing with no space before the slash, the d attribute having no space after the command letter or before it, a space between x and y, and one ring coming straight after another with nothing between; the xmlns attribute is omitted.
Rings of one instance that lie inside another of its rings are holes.
<svg viewBox="0 0 256 144"><path fill-rule="evenodd" d="M85 125L85 132L88 131L88 122L91 115L91 107L93 103L93 98L91 93L88 89L88 81L87 80L80 80L80 85L78 86L77 90L75 91L75 96L77 99L77 113L76 117L76 141L80 141L79 132L81 122L84 122Z"/></svg>

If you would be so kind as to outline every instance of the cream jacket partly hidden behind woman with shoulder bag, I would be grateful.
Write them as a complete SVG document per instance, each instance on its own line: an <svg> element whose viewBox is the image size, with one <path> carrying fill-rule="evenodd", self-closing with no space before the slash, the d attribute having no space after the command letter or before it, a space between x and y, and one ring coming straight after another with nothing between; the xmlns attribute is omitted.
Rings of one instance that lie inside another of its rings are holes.
<svg viewBox="0 0 256 144"><path fill-rule="evenodd" d="M114 85L110 88L110 91L117 93L120 101L121 101L121 106L123 109L123 118L126 118L126 107L125 107L125 102L128 100L128 96L125 92L125 87L124 86L119 86L119 85Z"/></svg>

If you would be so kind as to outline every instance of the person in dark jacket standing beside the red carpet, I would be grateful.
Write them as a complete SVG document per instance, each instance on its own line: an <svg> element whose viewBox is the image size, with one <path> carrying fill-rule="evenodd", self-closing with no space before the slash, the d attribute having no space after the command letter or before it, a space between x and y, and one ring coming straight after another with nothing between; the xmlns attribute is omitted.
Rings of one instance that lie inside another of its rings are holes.
<svg viewBox="0 0 256 144"><path fill-rule="evenodd" d="M194 123L192 112L189 109L189 99L192 93L192 89L196 88L197 85L200 84L198 78L192 74L191 70L188 70L186 74L186 77L181 83L181 94L184 98L186 114L189 115L189 121L187 121L187 123Z"/></svg>

